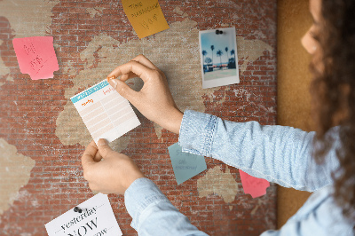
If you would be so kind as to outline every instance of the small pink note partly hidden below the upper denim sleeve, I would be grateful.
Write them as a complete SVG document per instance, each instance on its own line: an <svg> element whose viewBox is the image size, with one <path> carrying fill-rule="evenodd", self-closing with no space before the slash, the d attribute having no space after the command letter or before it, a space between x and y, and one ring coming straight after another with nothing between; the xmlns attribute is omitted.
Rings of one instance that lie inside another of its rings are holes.
<svg viewBox="0 0 355 236"><path fill-rule="evenodd" d="M243 185L244 193L249 193L253 199L266 194L266 189L270 186L267 180L249 176L241 169L239 174L241 175L241 185Z"/></svg>

